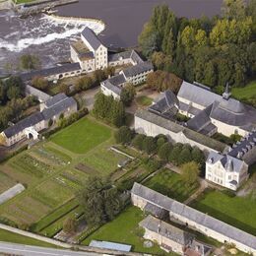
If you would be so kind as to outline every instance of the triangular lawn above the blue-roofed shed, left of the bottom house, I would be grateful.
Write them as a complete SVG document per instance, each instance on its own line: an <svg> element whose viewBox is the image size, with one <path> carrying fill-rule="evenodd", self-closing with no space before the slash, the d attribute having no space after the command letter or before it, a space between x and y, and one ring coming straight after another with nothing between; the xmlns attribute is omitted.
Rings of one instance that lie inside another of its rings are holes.
<svg viewBox="0 0 256 256"><path fill-rule="evenodd" d="M94 233L89 235L82 244L89 245L92 240L104 240L132 245L132 250L136 252L163 255L164 251L159 246L151 248L143 246L144 239L139 223L146 216L136 207L129 207L121 213L115 220L99 227ZM171 254L168 254L171 255Z"/></svg>

